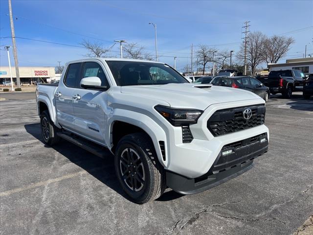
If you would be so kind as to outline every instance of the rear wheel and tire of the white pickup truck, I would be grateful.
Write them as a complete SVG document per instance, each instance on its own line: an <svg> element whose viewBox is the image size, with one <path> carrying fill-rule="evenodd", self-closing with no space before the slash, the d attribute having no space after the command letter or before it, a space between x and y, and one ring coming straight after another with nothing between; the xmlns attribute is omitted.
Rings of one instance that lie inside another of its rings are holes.
<svg viewBox="0 0 313 235"><path fill-rule="evenodd" d="M47 110L43 111L40 115L40 130L44 142L47 145L52 146L60 141L60 137L57 136L59 129L51 121L49 112Z"/></svg>

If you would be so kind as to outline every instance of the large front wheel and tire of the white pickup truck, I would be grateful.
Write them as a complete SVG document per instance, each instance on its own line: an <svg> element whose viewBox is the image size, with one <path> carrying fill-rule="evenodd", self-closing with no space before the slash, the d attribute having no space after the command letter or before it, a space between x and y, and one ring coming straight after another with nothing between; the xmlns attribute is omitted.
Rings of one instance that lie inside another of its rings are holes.
<svg viewBox="0 0 313 235"><path fill-rule="evenodd" d="M124 136L117 144L114 165L119 183L135 203L147 203L163 194L166 188L164 168L157 160L148 135Z"/></svg>

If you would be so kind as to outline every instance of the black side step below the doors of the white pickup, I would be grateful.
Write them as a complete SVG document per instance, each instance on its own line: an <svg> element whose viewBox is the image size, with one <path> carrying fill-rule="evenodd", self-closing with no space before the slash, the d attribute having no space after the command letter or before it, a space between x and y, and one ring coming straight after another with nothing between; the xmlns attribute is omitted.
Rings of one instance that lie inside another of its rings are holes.
<svg viewBox="0 0 313 235"><path fill-rule="evenodd" d="M67 140L73 144L76 144L77 146L89 151L90 153L93 153L94 155L100 158L105 158L112 155L108 148L93 143L91 141L85 140L84 138L81 138L79 136L66 134L64 132L63 133L58 132L57 135L62 139Z"/></svg>

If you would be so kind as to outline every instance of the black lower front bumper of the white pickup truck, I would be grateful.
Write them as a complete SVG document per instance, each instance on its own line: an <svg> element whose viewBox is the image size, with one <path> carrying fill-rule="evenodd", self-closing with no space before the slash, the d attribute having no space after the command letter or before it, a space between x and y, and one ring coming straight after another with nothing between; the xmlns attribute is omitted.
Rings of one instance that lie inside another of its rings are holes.
<svg viewBox="0 0 313 235"><path fill-rule="evenodd" d="M223 146L214 164L204 175L191 179L167 171L166 183L169 188L181 194L198 193L244 173L253 166L253 160L256 157L267 151L267 133L226 144Z"/></svg>

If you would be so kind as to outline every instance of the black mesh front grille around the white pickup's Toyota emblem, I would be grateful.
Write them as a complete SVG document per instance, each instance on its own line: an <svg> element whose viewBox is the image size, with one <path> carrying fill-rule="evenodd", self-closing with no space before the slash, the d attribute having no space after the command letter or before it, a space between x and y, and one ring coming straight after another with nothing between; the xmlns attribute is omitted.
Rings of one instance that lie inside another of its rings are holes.
<svg viewBox="0 0 313 235"><path fill-rule="evenodd" d="M252 117L246 120L243 112L252 110ZM265 106L254 105L216 111L207 121L207 128L213 136L222 136L236 131L264 124Z"/></svg>

